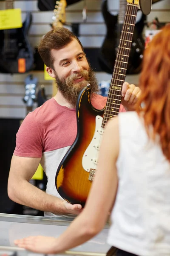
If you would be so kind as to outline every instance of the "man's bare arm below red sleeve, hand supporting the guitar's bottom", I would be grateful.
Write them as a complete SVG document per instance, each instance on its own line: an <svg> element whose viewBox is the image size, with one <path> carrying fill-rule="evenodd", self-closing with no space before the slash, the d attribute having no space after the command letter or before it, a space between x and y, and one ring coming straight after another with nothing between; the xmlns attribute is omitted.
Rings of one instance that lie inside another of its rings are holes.
<svg viewBox="0 0 170 256"><path fill-rule="evenodd" d="M13 155L8 177L9 198L18 204L45 212L79 214L81 212L81 205L68 204L66 201L48 195L29 183L29 180L37 170L40 159Z"/></svg>

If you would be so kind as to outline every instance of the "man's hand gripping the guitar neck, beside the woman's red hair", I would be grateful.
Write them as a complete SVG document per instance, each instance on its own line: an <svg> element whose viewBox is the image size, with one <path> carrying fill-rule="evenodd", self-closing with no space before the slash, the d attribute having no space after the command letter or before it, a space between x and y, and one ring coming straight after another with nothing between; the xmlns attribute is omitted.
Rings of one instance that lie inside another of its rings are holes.
<svg viewBox="0 0 170 256"><path fill-rule="evenodd" d="M126 111L133 111L141 95L141 89L134 84L124 82L122 86L122 105Z"/></svg>

